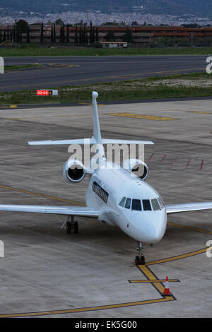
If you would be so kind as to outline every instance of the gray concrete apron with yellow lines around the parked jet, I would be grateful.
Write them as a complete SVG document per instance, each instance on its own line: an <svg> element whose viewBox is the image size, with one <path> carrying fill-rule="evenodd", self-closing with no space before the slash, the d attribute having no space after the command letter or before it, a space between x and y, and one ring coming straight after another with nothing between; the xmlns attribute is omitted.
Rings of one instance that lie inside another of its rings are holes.
<svg viewBox="0 0 212 332"><path fill-rule="evenodd" d="M211 100L99 105L99 111L102 137L155 142L145 148L146 181L165 203L212 201ZM68 147L28 141L90 136L90 105L1 109L1 203L85 203L88 179L69 184L61 174ZM211 317L211 213L170 215L165 237L144 247L146 266L138 268L134 240L116 227L77 218L78 235L67 235L63 216L1 212L0 317ZM160 281L129 283L166 275L180 281L170 282L171 297L161 295Z"/></svg>

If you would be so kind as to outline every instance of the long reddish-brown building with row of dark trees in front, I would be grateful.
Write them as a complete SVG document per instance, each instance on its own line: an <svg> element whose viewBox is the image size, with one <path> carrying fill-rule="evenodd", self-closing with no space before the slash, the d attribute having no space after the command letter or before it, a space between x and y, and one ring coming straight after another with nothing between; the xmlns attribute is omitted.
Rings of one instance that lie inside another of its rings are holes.
<svg viewBox="0 0 212 332"><path fill-rule="evenodd" d="M25 30L0 25L0 44L102 45L102 47L212 46L212 27L64 25L37 23ZM126 42L126 45L123 44ZM108 46L107 46L108 45Z"/></svg>

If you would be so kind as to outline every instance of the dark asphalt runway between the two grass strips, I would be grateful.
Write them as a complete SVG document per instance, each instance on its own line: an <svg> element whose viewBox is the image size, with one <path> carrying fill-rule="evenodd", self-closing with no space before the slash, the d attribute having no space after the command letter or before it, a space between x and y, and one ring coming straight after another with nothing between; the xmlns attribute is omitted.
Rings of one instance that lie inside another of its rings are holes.
<svg viewBox="0 0 212 332"><path fill-rule="evenodd" d="M57 88L205 71L206 56L5 57L6 65L41 64L0 75L0 92Z"/></svg>

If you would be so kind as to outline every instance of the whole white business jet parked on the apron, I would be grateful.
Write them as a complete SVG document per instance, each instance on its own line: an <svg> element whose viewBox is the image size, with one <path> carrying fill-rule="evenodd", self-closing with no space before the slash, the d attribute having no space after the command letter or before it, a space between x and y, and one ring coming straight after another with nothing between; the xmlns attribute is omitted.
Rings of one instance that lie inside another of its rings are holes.
<svg viewBox="0 0 212 332"><path fill-rule="evenodd" d="M98 145L99 167L85 167L76 159L64 163L63 175L69 182L80 182L86 174L90 176L86 192L87 206L30 206L30 205L0 205L0 211L21 211L31 213L52 213L67 215L63 227L66 232L78 232L78 223L74 217L97 218L107 225L119 227L126 235L136 240L139 251L135 262L144 264L142 244L159 242L165 235L167 215L187 211L199 211L212 208L208 203L184 203L166 205L157 191L144 182L148 175L148 166L141 160L128 160L128 169L113 167L113 163L105 157L103 144L153 144L151 141L127 141L104 139L101 137L96 99L98 93L93 92L93 137L91 144ZM31 141L31 146L54 144L84 144L84 139L63 141ZM134 175L138 165L142 165L143 174ZM134 175L134 176L133 176Z"/></svg>

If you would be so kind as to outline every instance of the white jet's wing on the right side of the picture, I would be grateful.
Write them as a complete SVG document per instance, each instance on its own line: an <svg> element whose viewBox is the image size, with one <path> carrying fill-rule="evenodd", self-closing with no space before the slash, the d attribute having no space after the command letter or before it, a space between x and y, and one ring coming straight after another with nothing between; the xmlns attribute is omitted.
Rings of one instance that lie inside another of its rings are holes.
<svg viewBox="0 0 212 332"><path fill-rule="evenodd" d="M208 210L212 208L212 202L167 205L165 208L167 215L169 215L172 213Z"/></svg>

